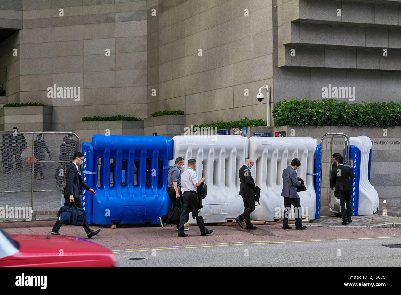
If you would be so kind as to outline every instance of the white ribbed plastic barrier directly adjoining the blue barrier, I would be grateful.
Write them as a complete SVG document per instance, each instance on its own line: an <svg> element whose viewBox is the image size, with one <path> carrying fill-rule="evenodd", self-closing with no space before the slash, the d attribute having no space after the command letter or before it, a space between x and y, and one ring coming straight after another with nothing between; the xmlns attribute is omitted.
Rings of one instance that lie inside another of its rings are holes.
<svg viewBox="0 0 401 295"><path fill-rule="evenodd" d="M233 135L205 136L177 135L174 139L174 157L196 160L198 179L205 177L207 197L203 200L202 214L205 222L227 222L243 212L239 196L238 170L248 156L248 138ZM174 160L169 162L170 166ZM203 174L203 175L202 175ZM196 224L189 216L188 223Z"/></svg>

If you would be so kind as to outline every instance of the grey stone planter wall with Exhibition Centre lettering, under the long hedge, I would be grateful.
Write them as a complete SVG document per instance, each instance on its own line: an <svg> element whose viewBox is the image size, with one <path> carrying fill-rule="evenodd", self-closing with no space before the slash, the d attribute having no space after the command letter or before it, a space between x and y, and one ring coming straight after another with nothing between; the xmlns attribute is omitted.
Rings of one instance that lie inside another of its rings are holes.
<svg viewBox="0 0 401 295"><path fill-rule="evenodd" d="M348 137L366 135L372 140L371 184L379 194L380 204L401 205L401 127L349 127L349 126L282 126L274 132L286 131L286 137L312 137L318 144L326 133L344 133ZM387 135L387 136L385 136ZM330 140L323 141L322 152L322 204L327 206L329 173L331 167ZM333 138L332 152L342 154L344 139ZM301 164L302 165L302 164Z"/></svg>

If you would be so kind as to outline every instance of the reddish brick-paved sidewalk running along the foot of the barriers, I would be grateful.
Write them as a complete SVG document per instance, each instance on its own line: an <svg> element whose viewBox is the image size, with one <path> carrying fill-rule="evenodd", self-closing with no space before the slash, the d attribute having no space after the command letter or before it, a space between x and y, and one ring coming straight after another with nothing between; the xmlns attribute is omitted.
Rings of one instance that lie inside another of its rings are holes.
<svg viewBox="0 0 401 295"><path fill-rule="evenodd" d="M8 234L50 234L53 224L53 221L34 221L2 223L0 226ZM191 226L186 232L188 237L178 238L176 229L170 226L164 229L160 226L111 229L92 225L93 229L101 228L101 232L90 240L110 250L124 250L229 242L401 236L401 228L308 226L306 230L295 230L293 226L292 230L283 230L281 227L280 224L258 225L256 230L241 230L239 226L207 226L214 232L208 236L201 236L198 227ZM63 225L60 233L87 238L81 226Z"/></svg>

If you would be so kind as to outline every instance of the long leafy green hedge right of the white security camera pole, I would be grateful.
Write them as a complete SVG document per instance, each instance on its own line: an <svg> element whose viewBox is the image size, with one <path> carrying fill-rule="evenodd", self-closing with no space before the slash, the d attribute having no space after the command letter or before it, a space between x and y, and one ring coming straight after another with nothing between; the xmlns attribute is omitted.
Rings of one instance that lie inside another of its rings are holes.
<svg viewBox="0 0 401 295"><path fill-rule="evenodd" d="M277 127L290 126L401 126L401 105L396 102L347 103L336 99L322 101L292 98L279 101L272 111Z"/></svg>

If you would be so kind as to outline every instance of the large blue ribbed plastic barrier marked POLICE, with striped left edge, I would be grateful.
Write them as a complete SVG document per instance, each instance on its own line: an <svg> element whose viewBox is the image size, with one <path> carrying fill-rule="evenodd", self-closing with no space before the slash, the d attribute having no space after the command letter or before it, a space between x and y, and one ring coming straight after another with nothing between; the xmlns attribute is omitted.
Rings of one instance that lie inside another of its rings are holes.
<svg viewBox="0 0 401 295"><path fill-rule="evenodd" d="M93 135L92 143L83 143L82 150L86 183L96 191L95 195L85 192L89 223L158 224L158 217L170 206L167 169L163 167L172 159L173 139Z"/></svg>

